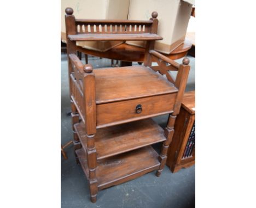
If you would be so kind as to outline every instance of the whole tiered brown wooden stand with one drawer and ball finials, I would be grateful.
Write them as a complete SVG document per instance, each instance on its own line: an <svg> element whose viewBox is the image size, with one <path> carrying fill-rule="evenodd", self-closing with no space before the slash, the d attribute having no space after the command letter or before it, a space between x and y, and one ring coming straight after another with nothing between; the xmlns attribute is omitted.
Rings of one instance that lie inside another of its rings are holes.
<svg viewBox="0 0 256 208"><path fill-rule="evenodd" d="M74 150L95 202L103 188L153 170L160 176L190 66L188 58L178 64L153 50L161 39L156 12L149 21L76 20L72 13L66 9ZM94 32L77 30L89 25ZM76 41L102 40L147 40L144 65L93 70L75 55ZM153 60L159 66L152 66ZM168 71L178 71L175 81ZM162 114L169 114L165 130L151 119ZM150 146L158 142L160 155Z"/></svg>

